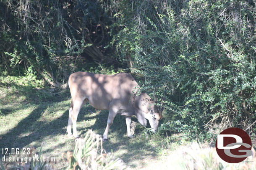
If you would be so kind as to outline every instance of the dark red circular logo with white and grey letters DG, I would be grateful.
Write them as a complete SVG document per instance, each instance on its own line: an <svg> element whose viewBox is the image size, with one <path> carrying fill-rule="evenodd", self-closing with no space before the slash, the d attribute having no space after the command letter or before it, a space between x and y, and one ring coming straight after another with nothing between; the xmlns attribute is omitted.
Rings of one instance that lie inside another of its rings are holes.
<svg viewBox="0 0 256 170"><path fill-rule="evenodd" d="M238 163L252 155L251 138L242 129L231 127L223 130L215 143L219 157L229 163Z"/></svg>

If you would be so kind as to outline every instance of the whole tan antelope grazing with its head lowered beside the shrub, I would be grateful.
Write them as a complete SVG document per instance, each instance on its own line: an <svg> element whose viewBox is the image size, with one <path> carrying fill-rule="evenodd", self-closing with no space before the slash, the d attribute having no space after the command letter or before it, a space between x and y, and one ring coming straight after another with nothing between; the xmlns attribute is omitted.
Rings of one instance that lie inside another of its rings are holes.
<svg viewBox="0 0 256 170"><path fill-rule="evenodd" d="M71 124L73 124L73 136L78 137L76 119L86 102L95 109L109 110L103 139L107 139L108 130L116 114L126 117L127 135L130 138L133 137L130 129L132 115L136 115L138 122L144 126L148 119L153 131L157 130L159 120L162 119L162 107L155 106L154 101L146 93L136 94L139 86L129 74L118 73L108 76L76 72L69 76L68 85L72 97L68 117L68 135L72 135Z"/></svg>

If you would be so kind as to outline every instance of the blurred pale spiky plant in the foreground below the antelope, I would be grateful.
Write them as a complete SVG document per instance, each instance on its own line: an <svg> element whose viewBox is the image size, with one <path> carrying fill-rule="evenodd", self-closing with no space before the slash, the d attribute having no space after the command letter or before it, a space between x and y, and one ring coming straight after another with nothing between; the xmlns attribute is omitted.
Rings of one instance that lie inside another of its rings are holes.
<svg viewBox="0 0 256 170"><path fill-rule="evenodd" d="M84 139L75 142L73 154L68 152L69 165L66 170L123 170L125 164L119 158L114 159L102 147L103 139L92 130L86 133Z"/></svg>

